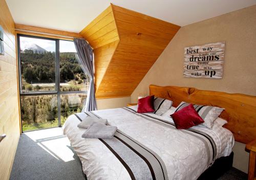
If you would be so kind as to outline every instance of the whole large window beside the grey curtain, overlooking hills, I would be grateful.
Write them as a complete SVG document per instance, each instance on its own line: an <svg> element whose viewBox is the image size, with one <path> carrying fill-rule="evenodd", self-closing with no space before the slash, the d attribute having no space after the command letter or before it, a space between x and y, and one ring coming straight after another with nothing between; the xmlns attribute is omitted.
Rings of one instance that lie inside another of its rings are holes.
<svg viewBox="0 0 256 180"><path fill-rule="evenodd" d="M86 103L89 78L74 42L18 35L22 130L61 126Z"/></svg>

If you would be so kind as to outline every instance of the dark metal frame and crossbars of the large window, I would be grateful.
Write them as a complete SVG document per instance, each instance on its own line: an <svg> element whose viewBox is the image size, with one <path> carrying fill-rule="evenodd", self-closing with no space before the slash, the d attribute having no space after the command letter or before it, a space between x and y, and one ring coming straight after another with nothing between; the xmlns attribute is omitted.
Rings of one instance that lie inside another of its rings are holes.
<svg viewBox="0 0 256 180"><path fill-rule="evenodd" d="M55 91L33 91L33 92L23 92L22 91L22 63L20 58L20 37L30 37L30 38L38 38L38 39L47 39L47 40L54 40L55 41ZM18 53L18 83L19 83L19 97L23 96L40 96L40 95L57 95L57 109L58 109L58 126L61 127L61 100L60 95L67 95L67 94L87 94L88 91L60 91L60 52L59 52L59 41L63 39L56 39L56 38L49 38L49 37L42 37L42 36L34 36L34 35L27 35L27 34L17 34L17 53ZM66 40L66 39L65 39ZM66 41L73 41L73 40L66 40ZM19 98L19 107L21 107L21 100ZM21 113L21 108L19 109ZM20 124L23 131L23 124L22 119L20 118ZM53 128L53 127L50 127ZM49 129L49 128L42 128L42 129ZM40 129L37 129L40 130ZM34 130L29 130L34 131ZM28 132L28 131L26 131Z"/></svg>

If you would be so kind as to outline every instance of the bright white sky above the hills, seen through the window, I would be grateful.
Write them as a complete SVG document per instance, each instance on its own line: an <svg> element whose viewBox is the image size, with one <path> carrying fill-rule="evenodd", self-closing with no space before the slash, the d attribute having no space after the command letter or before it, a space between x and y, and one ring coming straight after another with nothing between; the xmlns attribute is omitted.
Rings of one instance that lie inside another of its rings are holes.
<svg viewBox="0 0 256 180"><path fill-rule="evenodd" d="M55 51L55 41L48 39L20 37L20 48L22 50L26 44L37 44L37 46L44 48L47 51ZM73 41L59 40L59 51L60 52L76 52Z"/></svg>

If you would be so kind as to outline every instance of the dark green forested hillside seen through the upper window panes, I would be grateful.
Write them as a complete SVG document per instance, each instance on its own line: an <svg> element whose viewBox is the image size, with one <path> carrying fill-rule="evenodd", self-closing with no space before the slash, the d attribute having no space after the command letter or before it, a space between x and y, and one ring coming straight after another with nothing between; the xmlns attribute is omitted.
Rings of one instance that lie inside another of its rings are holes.
<svg viewBox="0 0 256 180"><path fill-rule="evenodd" d="M22 89L28 91L54 90L47 85L33 86L35 83L55 83L55 52L37 53L25 50L20 53L22 64ZM70 82L70 87L62 87L62 91L80 91L78 84L85 82L88 76L82 72L76 53L60 53L60 83ZM72 88L72 89L70 89Z"/></svg>

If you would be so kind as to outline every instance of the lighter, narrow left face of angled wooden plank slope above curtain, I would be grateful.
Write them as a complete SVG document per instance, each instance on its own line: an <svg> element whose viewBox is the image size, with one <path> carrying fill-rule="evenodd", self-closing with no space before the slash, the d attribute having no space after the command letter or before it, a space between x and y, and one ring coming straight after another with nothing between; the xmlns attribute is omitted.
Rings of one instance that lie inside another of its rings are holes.
<svg viewBox="0 0 256 180"><path fill-rule="evenodd" d="M95 87L97 89L119 43L111 6L96 17L80 34L94 49Z"/></svg>

